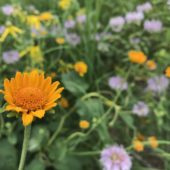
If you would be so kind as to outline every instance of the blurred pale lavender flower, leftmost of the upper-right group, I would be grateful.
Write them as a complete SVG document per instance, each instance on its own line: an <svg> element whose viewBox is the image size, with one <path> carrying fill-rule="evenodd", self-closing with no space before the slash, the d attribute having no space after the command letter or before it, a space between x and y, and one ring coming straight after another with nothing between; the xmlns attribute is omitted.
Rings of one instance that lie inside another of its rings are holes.
<svg viewBox="0 0 170 170"><path fill-rule="evenodd" d="M119 32L122 30L123 25L125 24L125 19L121 16L111 18L109 21L109 26L113 31Z"/></svg>

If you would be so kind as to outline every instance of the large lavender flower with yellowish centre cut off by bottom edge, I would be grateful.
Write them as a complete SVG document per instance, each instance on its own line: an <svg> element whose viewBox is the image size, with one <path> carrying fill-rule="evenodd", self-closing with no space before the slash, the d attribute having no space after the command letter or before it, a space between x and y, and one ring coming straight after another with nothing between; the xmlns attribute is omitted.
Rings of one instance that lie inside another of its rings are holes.
<svg viewBox="0 0 170 170"><path fill-rule="evenodd" d="M130 170L131 157L122 146L105 148L101 153L100 162L103 170Z"/></svg>

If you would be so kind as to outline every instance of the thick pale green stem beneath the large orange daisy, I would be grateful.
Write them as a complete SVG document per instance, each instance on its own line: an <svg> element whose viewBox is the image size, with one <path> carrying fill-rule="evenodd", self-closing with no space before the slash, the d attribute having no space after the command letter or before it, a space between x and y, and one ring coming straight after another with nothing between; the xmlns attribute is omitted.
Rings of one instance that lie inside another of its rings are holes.
<svg viewBox="0 0 170 170"><path fill-rule="evenodd" d="M26 158L26 155L27 155L27 149L28 149L30 133L31 133L31 125L26 126L25 130L24 130L24 141L23 141L23 145L22 145L22 153L21 153L21 159L20 159L18 170L23 170L24 169L24 164L25 164L25 158Z"/></svg>

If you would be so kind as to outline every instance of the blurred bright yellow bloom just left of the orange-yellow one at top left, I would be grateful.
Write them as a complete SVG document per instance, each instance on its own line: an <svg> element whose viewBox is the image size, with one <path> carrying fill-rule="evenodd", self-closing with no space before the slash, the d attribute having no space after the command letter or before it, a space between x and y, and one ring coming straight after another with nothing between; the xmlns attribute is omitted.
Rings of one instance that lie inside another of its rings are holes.
<svg viewBox="0 0 170 170"><path fill-rule="evenodd" d="M39 29L41 26L40 19L36 15L29 15L27 16L27 24L31 27Z"/></svg>

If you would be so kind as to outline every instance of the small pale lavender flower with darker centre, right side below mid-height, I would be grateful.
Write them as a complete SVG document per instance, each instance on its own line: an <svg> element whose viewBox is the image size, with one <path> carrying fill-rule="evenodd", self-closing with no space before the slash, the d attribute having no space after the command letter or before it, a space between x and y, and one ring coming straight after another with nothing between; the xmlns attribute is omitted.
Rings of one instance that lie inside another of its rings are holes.
<svg viewBox="0 0 170 170"><path fill-rule="evenodd" d="M139 101L133 106L132 112L138 116L147 116L149 113L149 107L144 102Z"/></svg>

